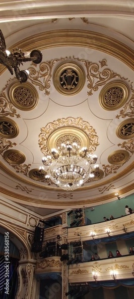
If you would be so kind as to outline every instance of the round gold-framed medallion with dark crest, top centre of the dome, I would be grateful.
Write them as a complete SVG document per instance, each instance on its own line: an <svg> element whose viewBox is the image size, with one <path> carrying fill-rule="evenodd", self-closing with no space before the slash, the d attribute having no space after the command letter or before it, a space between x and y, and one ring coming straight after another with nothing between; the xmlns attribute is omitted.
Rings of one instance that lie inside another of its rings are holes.
<svg viewBox="0 0 134 299"><path fill-rule="evenodd" d="M75 95L85 84L84 70L75 62L62 62L54 71L53 83L56 90L61 94Z"/></svg>

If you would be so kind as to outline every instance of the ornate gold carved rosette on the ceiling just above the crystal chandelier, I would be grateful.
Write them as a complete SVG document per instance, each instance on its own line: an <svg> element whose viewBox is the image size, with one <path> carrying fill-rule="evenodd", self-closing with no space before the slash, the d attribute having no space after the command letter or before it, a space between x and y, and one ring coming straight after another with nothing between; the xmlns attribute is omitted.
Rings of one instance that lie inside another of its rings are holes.
<svg viewBox="0 0 134 299"><path fill-rule="evenodd" d="M57 119L51 123L48 123L46 127L41 128L39 135L39 147L42 153L45 155L51 152L52 148L57 149L57 140L61 136L72 136L78 137L80 140L80 149L87 147L91 152L95 151L98 143L98 136L95 129L81 117L62 118ZM73 139L69 140L70 144ZM61 139L62 142L62 139Z"/></svg>

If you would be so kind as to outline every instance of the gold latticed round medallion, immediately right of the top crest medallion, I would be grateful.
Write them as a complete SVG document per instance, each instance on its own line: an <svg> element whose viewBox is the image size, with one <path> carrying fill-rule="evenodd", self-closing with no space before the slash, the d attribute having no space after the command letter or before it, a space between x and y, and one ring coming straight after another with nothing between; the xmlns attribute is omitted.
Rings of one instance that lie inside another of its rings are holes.
<svg viewBox="0 0 134 299"><path fill-rule="evenodd" d="M121 81L106 84L100 94L100 105L105 110L116 110L124 105L129 96L128 86Z"/></svg>

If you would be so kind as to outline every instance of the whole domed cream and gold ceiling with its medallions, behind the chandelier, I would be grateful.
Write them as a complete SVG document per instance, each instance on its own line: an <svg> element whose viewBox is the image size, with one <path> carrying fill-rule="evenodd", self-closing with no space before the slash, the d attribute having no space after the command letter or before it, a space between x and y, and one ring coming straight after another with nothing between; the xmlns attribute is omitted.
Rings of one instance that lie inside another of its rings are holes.
<svg viewBox="0 0 134 299"><path fill-rule="evenodd" d="M39 49L43 55L38 65L24 63L29 78L22 84L0 65L1 196L47 215L115 200L116 192L132 193L132 18L115 18L109 10L109 18L102 11L39 19L39 7L34 7L28 19L29 9L23 22L9 15L0 26L9 50ZM94 179L70 192L46 176L47 166L40 170L43 155L68 140L88 147L99 164Z"/></svg>

